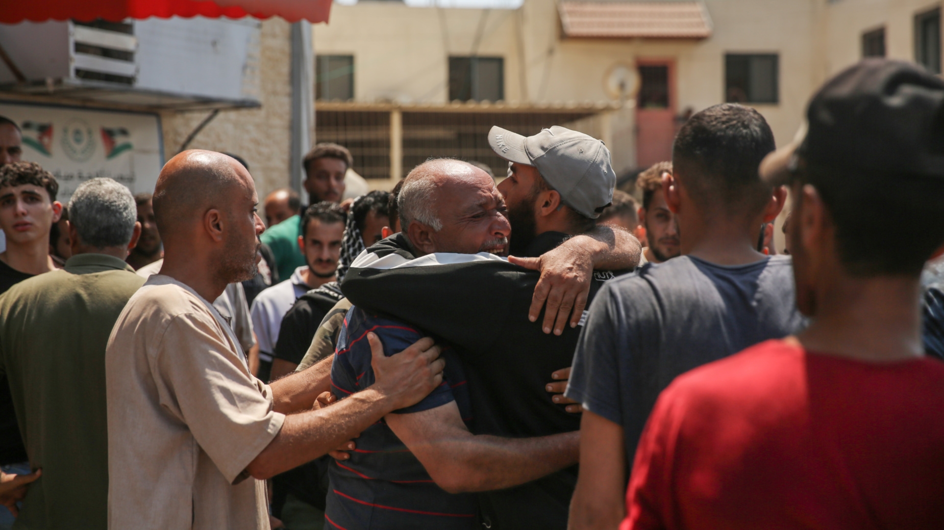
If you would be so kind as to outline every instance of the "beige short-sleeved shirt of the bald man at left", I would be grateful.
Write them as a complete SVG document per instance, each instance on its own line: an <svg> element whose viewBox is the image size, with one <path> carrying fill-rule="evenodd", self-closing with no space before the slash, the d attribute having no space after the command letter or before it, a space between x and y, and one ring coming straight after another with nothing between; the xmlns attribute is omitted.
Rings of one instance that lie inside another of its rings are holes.
<svg viewBox="0 0 944 530"><path fill-rule="evenodd" d="M265 483L245 469L285 416L228 327L160 274L118 318L106 352L113 530L269 527Z"/></svg>

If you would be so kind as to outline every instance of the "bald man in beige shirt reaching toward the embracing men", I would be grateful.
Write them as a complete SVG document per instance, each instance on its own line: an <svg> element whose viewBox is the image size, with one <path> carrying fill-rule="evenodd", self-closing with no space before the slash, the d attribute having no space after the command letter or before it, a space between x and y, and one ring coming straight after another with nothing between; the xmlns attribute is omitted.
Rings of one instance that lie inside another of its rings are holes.
<svg viewBox="0 0 944 530"><path fill-rule="evenodd" d="M253 377L208 300L256 273L258 203L252 177L226 155L185 151L160 172L163 267L128 301L106 351L110 527L267 529L261 479L325 455L442 381L432 340L392 358L373 350L377 383L329 409L312 410L305 373L271 387Z"/></svg>

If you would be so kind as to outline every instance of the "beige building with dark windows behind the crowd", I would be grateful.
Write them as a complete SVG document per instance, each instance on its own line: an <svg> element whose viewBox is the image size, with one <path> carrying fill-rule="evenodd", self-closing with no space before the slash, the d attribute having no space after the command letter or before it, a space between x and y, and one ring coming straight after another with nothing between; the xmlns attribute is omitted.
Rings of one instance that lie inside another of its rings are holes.
<svg viewBox="0 0 944 530"><path fill-rule="evenodd" d="M632 25L632 21L620 20L622 15L616 11L609 16L608 9L627 4L643 9L634 16L649 17L649 26L643 25L649 32L636 27L615 35L621 31L619 25ZM681 35L685 21L680 22L666 7L682 5L700 9L707 36ZM565 20L568 9L587 12L584 30L568 27L576 24ZM389 187L416 161L417 157L403 151L421 147L407 141L421 131L402 124L413 115L436 115L425 122L411 118L427 124L430 156L449 155L440 148L445 141L454 150L451 156L458 157L487 156L480 144L471 149L457 147L462 143L455 140L460 131L481 134L487 130L471 125L475 121L471 116L491 115L495 121L498 113L504 113L506 122L519 124L518 132L526 134L557 119L555 123L570 124L606 141L617 174L630 174L667 157L671 136L686 115L725 101L757 108L778 144L783 144L794 137L805 104L818 85L863 57L863 36L869 31L885 28L886 57L916 60L916 17L922 13L936 13L939 64L939 1L524 0L518 8L412 7L379 0L335 4L330 24L315 26L312 41L323 61L349 61L349 87L340 98L336 93L324 97L322 91L323 97L315 103L316 134L319 140L373 138L368 148L375 153L370 164L373 171L365 176L373 177L375 187ZM594 25L597 29L590 27ZM601 36L586 36L595 30ZM492 93L500 93L501 101L453 101L450 75L455 74L450 69L455 66L450 66L450 58L500 58L502 86L500 92ZM665 67L668 93L662 107L644 105L650 88L641 68L646 66ZM759 96L745 97L743 91L732 88L731 77L737 77L732 70L737 68L742 78L747 75L748 84L756 81L751 75L767 76L758 82ZM338 70L324 69L321 74L337 75ZM612 90L614 76L625 78L627 91ZM527 118L539 114L544 116ZM361 136L349 136L350 126L345 124L360 127ZM667 126L668 131L659 132L659 126ZM453 143L449 143L450 135ZM386 143L391 145L384 147ZM401 160L384 164L384 157ZM500 171L496 160L484 161Z"/></svg>

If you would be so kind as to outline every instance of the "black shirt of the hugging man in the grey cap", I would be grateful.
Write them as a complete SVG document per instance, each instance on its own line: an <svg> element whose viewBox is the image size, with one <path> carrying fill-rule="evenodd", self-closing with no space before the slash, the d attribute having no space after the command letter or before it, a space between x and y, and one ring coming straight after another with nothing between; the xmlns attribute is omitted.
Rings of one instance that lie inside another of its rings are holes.
<svg viewBox="0 0 944 530"><path fill-rule="evenodd" d="M566 239L546 232L532 241L540 256ZM362 308L395 316L455 346L463 360L475 434L537 437L576 431L581 417L554 404L545 389L550 374L570 366L581 326L558 337L541 330L543 314L528 320L536 271L482 255L430 255L422 266L397 234L367 249L342 290ZM374 255L383 259L370 265ZM396 267L396 268L390 268ZM596 272L589 299L614 273ZM589 300L588 300L589 305ZM511 489L480 494L483 522L502 530L565 529L577 467Z"/></svg>

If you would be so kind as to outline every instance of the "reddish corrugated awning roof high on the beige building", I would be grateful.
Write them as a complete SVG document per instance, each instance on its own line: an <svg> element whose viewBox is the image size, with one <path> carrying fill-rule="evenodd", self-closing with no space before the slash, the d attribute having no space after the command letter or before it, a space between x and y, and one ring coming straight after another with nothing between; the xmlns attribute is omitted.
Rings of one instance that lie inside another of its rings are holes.
<svg viewBox="0 0 944 530"><path fill-rule="evenodd" d="M558 5L564 34L596 39L706 39L711 20L701 2L574 2Z"/></svg>

